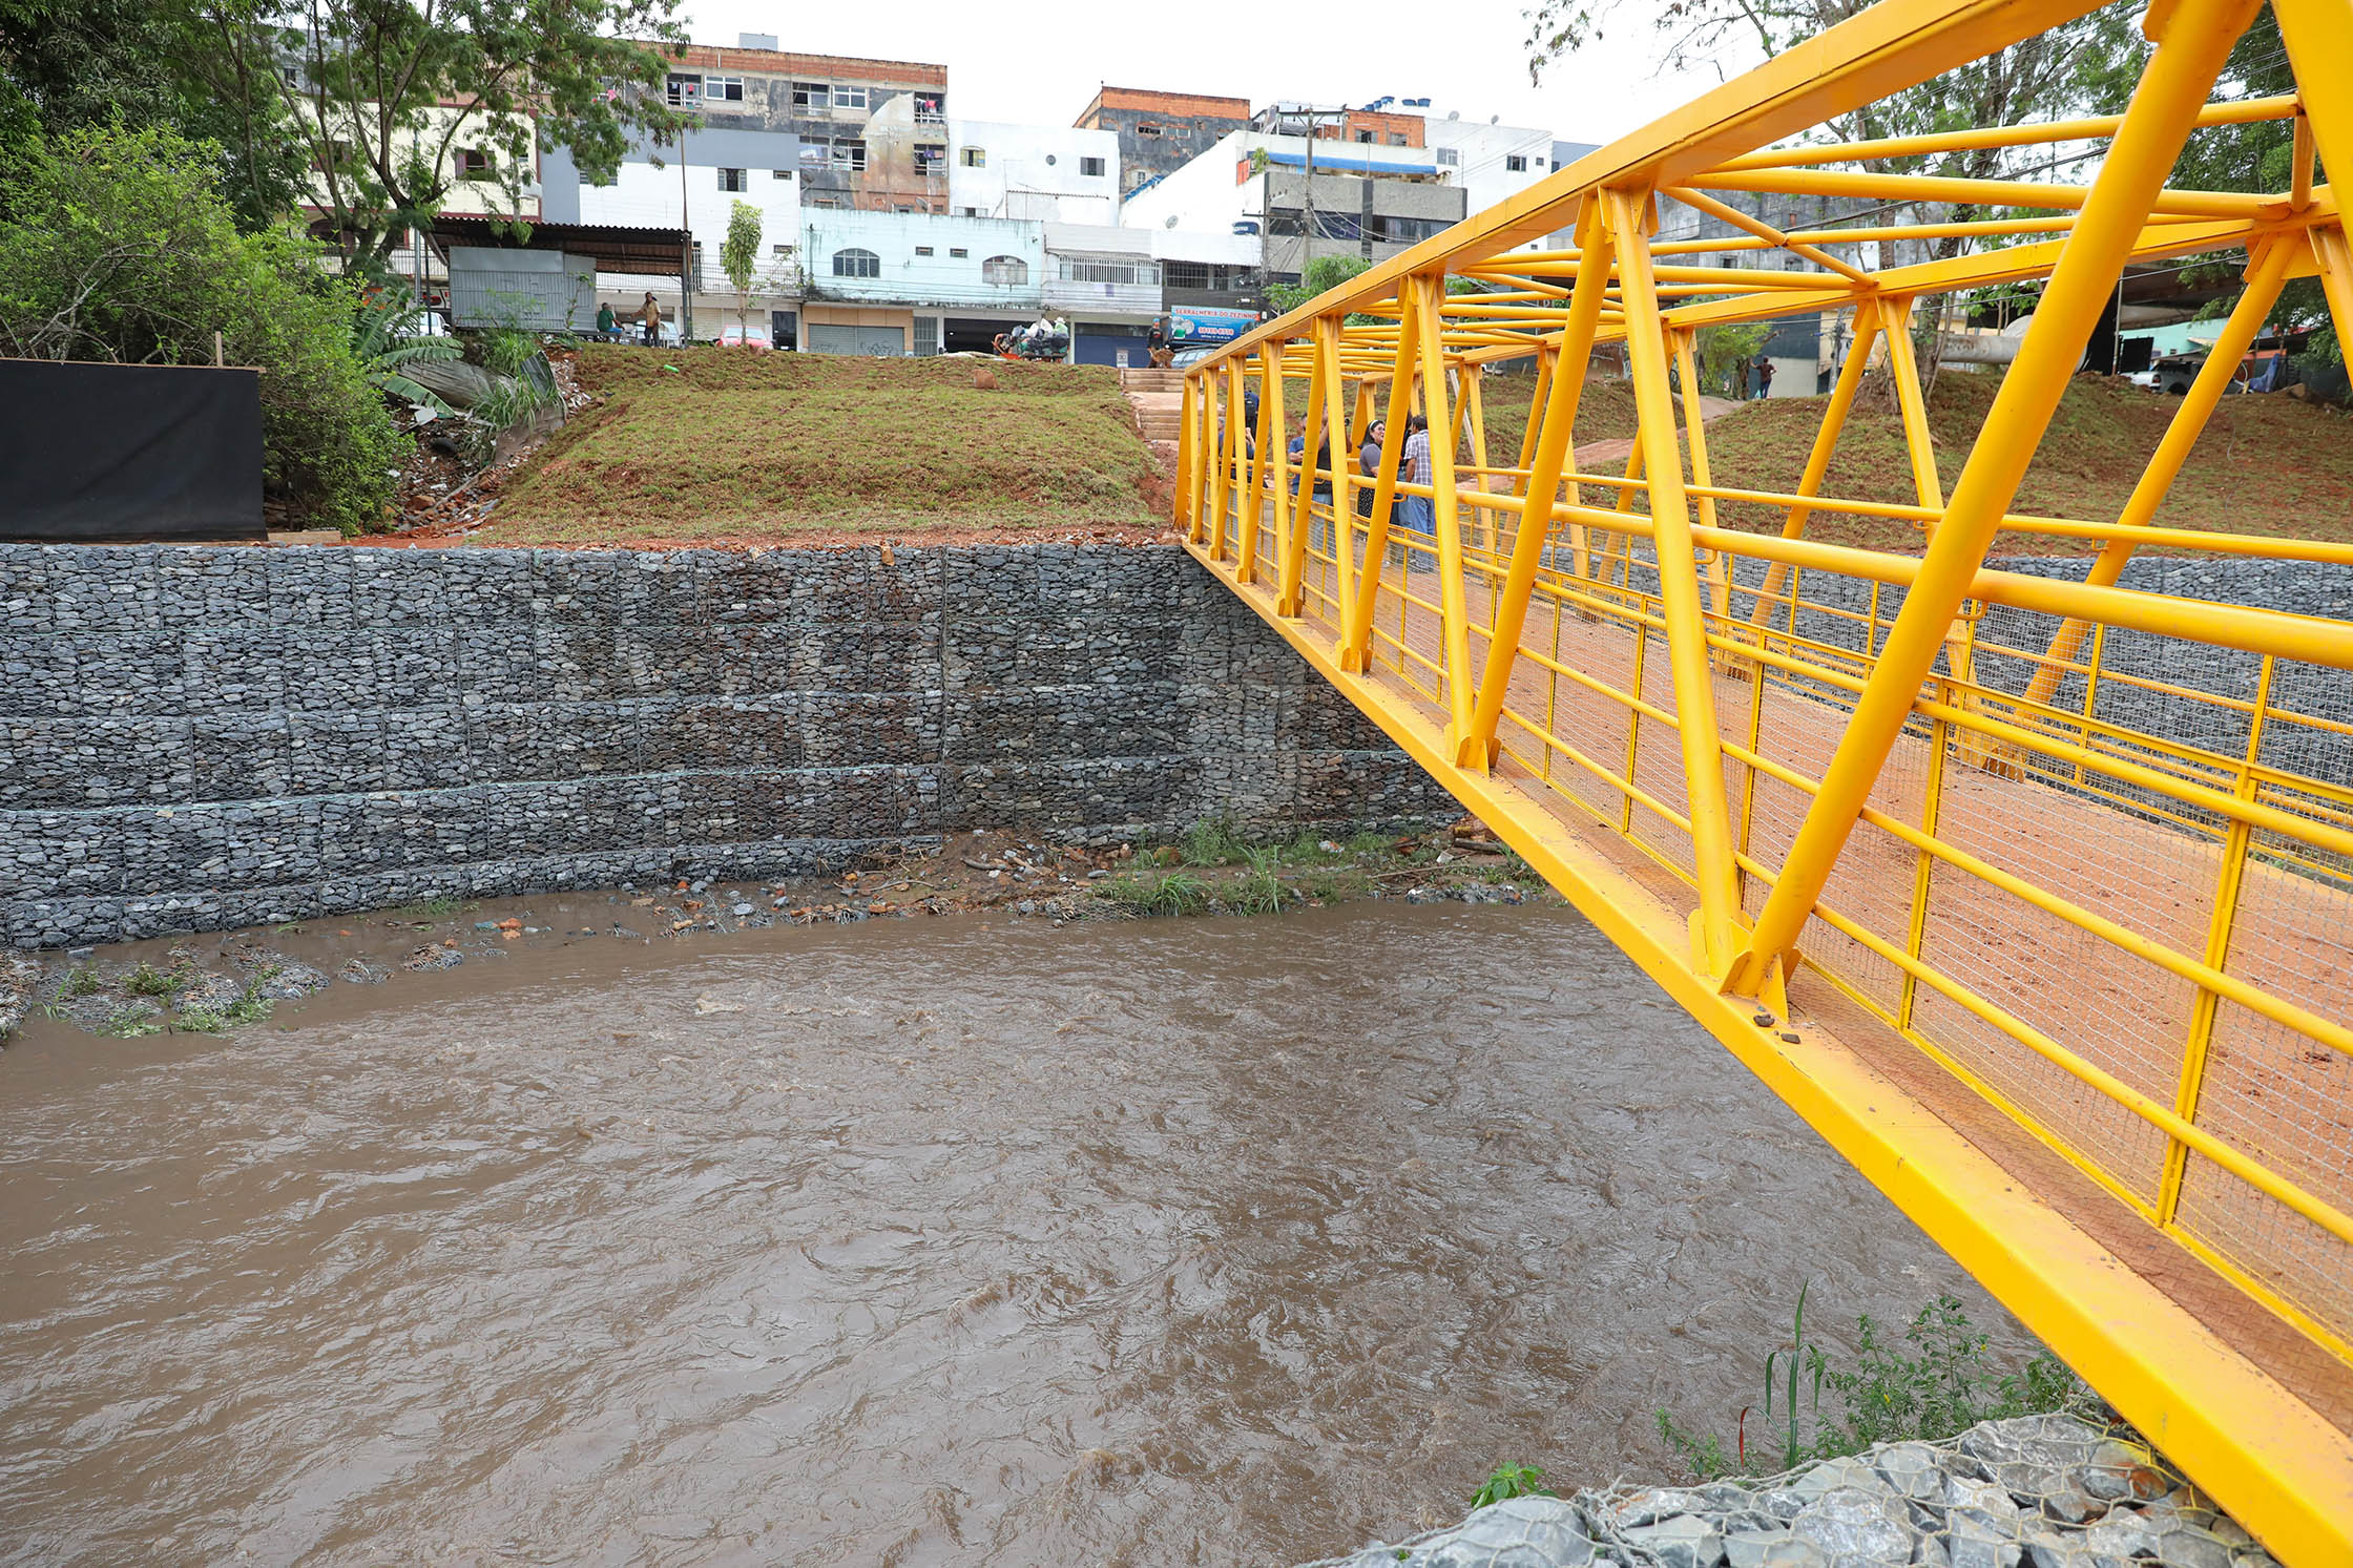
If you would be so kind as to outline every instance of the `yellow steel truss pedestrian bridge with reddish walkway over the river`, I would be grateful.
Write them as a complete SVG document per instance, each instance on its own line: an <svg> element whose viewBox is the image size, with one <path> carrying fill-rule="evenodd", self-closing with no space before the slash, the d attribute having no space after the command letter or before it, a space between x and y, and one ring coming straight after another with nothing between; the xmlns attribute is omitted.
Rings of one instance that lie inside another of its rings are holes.
<svg viewBox="0 0 2353 1568"><path fill-rule="evenodd" d="M1885 0L1195 367L1176 522L2205 1490L2318 1568L2353 1563L2353 625L2118 585L2141 548L2353 576L2346 545L2162 527L2285 280L2318 275L2353 341L2322 179L2353 169L2353 0L2271 2L2292 96L2209 101L2254 0L2153 0L2122 115L1838 141L1826 122L2089 9ZM2294 122L2285 190L2167 188L2195 127L2252 120ZM1887 172L2033 143L2104 153L2089 183ZM1774 228L1732 193L1875 207ZM1661 200L1739 235L1661 240ZM1882 266L1894 240L1958 244ZM2127 263L2198 254L2245 294L2122 515L2012 515ZM2021 280L2038 308L1946 491L1915 301ZM1694 334L1826 310L1854 346L1795 491L1711 470ZM1595 346L1633 381L1624 473L1574 473ZM1480 367L1529 357L1527 437L1489 451ZM1915 505L1821 494L1873 360ZM1417 407L1440 433L1426 484L1395 477ZM1287 414L1306 451L1348 454L1384 411L1377 482L1285 454ZM1407 494L1431 534L1393 527ZM1732 503L1779 531L1722 527ZM1812 541L1817 515L1911 520L1922 545ZM2082 541L2089 574L1988 569L1998 531Z"/></svg>

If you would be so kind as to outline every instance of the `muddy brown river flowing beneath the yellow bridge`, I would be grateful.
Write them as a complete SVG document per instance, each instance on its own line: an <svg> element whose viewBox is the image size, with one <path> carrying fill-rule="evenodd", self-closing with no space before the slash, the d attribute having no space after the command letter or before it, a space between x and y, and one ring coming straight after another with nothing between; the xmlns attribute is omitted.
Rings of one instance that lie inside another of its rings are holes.
<svg viewBox="0 0 2353 1568"><path fill-rule="evenodd" d="M1666 1465L1894 1208L1562 910L581 943L0 1053L0 1561L1287 1563Z"/></svg>

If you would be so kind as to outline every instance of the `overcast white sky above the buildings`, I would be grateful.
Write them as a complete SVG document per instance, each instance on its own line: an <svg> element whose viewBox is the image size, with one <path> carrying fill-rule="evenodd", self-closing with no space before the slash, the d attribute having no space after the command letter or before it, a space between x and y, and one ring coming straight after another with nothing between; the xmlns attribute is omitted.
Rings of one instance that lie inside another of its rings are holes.
<svg viewBox="0 0 2353 1568"><path fill-rule="evenodd" d="M774 33L786 49L948 66L948 113L1016 125L1071 125L1104 82L1249 99L1367 103L1431 99L1431 115L1501 115L1567 141L1609 141L1704 87L1713 75L1652 68L1647 0L1602 45L1529 87L1520 16L1527 0L1311 0L1308 5L1139 5L1059 0L1038 7L939 0L779 5L687 0L694 42ZM1419 33L1407 28L1419 24ZM1748 61L1727 61L1739 73Z"/></svg>

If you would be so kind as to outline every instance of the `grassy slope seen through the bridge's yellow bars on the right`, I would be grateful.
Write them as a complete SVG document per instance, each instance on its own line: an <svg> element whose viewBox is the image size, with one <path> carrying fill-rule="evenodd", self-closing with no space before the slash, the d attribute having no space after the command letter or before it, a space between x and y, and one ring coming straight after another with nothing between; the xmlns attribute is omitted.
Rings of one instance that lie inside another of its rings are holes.
<svg viewBox="0 0 2353 1568"><path fill-rule="evenodd" d="M1929 430L1948 496L1995 388L2000 378L1991 374L1946 371L1937 378ZM1487 444L1497 461L1518 454L1532 390L1532 378L1489 376ZM1588 435L1588 418L1579 411L1577 442L1633 435L1624 383L1593 383L1586 395L1593 393L1605 395L1605 416L1591 421ZM1718 484L1795 489L1821 425L1821 397L1772 397L1708 421L1708 458ZM2106 376L2078 376L2012 510L2111 522L2179 407L2179 397L2160 397ZM1609 468L1621 470L1617 463ZM1854 409L1824 489L1854 501L1915 498L1894 409ZM1737 529L1781 529L1779 508L1727 503L1720 517ZM2169 529L2353 541L2353 423L2334 409L2292 397L2226 397L2155 522ZM1922 538L1908 522L1828 512L1814 515L1807 536L1882 550L1918 550ZM2087 552L2073 541L2021 534L2002 534L1993 548L2019 555Z"/></svg>

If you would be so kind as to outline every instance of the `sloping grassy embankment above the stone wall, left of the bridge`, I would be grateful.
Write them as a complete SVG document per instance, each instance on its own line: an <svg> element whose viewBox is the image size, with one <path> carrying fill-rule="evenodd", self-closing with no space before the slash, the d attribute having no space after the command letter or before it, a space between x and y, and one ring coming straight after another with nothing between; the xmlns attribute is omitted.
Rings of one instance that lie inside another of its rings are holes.
<svg viewBox="0 0 2353 1568"><path fill-rule="evenodd" d="M1162 527L1108 369L586 348L600 402L508 482L480 543Z"/></svg>

